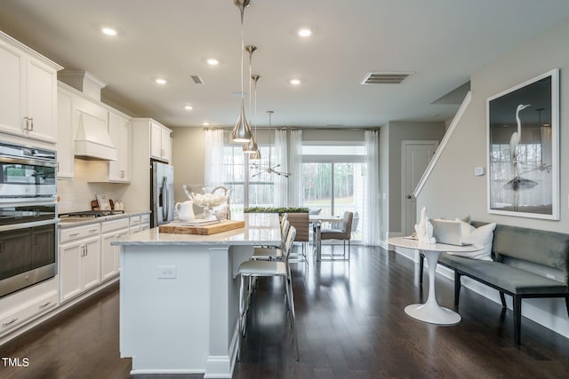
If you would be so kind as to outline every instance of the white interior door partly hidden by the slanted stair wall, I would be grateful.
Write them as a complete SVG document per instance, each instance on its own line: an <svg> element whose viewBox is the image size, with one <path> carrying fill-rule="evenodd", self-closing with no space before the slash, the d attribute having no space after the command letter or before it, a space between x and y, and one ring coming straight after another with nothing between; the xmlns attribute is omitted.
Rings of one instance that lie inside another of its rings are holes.
<svg viewBox="0 0 569 379"><path fill-rule="evenodd" d="M437 146L438 141L431 140L403 142L402 167L404 172L401 175L403 180L401 186L403 190L401 227L404 235L411 235L414 225L417 223L417 199L413 196L413 191L427 170Z"/></svg>

